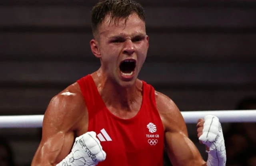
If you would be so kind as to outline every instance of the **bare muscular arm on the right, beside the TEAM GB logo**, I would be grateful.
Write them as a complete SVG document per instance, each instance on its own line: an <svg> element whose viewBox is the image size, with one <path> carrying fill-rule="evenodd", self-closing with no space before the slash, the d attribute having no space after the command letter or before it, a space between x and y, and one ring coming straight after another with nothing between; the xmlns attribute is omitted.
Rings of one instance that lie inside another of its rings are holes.
<svg viewBox="0 0 256 166"><path fill-rule="evenodd" d="M165 147L174 166L206 166L198 149L188 138L184 119L174 102L156 92L156 106L165 130Z"/></svg>

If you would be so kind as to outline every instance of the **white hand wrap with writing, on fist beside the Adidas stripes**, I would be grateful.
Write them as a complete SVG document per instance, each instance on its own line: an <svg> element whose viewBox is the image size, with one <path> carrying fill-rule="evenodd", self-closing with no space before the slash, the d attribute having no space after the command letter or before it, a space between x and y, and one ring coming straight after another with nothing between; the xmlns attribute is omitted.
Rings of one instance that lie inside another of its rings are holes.
<svg viewBox="0 0 256 166"><path fill-rule="evenodd" d="M105 158L96 133L91 131L77 137L70 154L56 166L96 166Z"/></svg>

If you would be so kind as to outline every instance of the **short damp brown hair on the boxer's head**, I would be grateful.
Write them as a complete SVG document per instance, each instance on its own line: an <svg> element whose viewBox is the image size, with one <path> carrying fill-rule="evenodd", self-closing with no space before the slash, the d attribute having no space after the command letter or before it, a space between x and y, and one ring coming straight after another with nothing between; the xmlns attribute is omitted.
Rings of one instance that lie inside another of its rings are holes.
<svg viewBox="0 0 256 166"><path fill-rule="evenodd" d="M132 13L136 13L139 18L145 22L145 11L142 6L134 0L104 0L99 2L91 11L92 33L94 37L106 15L110 14L110 23L114 20L114 23L118 24L120 18L127 20Z"/></svg>

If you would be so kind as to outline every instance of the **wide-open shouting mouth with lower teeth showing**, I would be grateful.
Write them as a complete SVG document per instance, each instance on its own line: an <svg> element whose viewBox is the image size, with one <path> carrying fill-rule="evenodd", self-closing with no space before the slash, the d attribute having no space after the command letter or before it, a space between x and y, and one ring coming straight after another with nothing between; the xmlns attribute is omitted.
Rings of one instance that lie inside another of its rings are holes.
<svg viewBox="0 0 256 166"><path fill-rule="evenodd" d="M120 63L120 71L122 76L132 76L136 67L136 61L134 59L126 59Z"/></svg>

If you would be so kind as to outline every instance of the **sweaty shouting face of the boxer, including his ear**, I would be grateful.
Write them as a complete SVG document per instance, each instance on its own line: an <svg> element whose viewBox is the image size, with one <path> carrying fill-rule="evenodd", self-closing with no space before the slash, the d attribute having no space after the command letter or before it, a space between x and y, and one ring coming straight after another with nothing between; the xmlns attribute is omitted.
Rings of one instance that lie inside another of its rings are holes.
<svg viewBox="0 0 256 166"><path fill-rule="evenodd" d="M136 14L131 14L125 24L118 24L110 16L99 27L97 40L90 42L92 52L100 58L102 70L107 77L122 87L132 86L146 59L148 36L145 23Z"/></svg>

